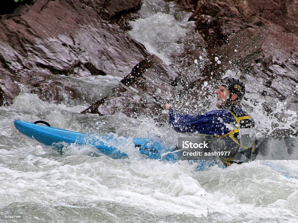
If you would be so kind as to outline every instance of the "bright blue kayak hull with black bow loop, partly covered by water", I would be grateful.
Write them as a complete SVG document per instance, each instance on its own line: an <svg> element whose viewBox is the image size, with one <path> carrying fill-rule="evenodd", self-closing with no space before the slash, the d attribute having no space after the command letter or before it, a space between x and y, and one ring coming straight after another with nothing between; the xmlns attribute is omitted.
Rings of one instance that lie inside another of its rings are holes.
<svg viewBox="0 0 298 223"><path fill-rule="evenodd" d="M22 134L44 145L57 146L57 144L61 142L66 144L76 143L77 145L92 145L96 147L100 153L111 158L118 159L128 157L126 153L121 152L114 146L117 145L117 143L113 143L115 141L117 142L117 138L112 136L98 136L97 134L74 132L21 120L16 120L14 124L15 128ZM174 152L173 145L147 138L134 138L133 142L140 153L147 155L150 159L178 160L178 154Z"/></svg>

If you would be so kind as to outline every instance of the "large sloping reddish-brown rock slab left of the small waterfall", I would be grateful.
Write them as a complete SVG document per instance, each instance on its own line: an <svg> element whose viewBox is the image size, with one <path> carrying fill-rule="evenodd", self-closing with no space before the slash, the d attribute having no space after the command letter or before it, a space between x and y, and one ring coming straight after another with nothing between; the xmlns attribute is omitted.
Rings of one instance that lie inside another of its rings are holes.
<svg viewBox="0 0 298 223"><path fill-rule="evenodd" d="M35 0L19 6L12 15L3 15L1 101L10 104L18 95L14 82L42 99L60 102L86 93L63 76L123 77L130 73L131 67L149 54L117 24L99 15L111 4L111 1L97 4L97 1ZM137 4L138 1L128 1L110 13L120 16Z"/></svg>

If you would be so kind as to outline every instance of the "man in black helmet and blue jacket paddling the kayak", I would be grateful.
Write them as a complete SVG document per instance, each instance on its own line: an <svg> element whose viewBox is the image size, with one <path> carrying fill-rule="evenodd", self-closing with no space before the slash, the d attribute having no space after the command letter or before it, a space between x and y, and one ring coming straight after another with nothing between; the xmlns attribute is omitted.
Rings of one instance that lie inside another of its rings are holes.
<svg viewBox="0 0 298 223"><path fill-rule="evenodd" d="M221 85L215 92L217 95L218 110L212 110L204 114L193 116L182 115L171 108L170 104L164 104L165 109L169 109L169 123L177 132L204 134L204 136L220 136L229 139L238 151L245 152L245 156L225 159L227 165L231 163L242 163L248 161L251 154L256 154L254 143L247 144L241 140L254 142L254 120L240 107L240 102L245 94L245 86L238 78L228 76L221 80ZM249 146L248 146L249 145ZM235 153L236 154L236 153Z"/></svg>

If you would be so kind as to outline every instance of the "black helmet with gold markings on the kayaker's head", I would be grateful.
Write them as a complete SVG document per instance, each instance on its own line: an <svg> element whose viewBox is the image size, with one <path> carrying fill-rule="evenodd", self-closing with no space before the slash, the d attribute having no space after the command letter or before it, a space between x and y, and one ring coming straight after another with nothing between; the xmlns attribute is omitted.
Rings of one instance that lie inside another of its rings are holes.
<svg viewBox="0 0 298 223"><path fill-rule="evenodd" d="M229 91L231 92L230 97L232 96L232 94L237 94L237 98L241 100L245 95L245 86L238 78L231 76L225 77L221 80L221 85L229 89Z"/></svg>

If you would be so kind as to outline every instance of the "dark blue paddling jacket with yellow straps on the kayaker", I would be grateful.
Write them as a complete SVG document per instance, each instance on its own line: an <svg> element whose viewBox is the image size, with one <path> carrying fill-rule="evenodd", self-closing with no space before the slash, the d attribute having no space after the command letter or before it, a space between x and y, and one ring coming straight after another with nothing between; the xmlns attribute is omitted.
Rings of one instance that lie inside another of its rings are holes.
<svg viewBox="0 0 298 223"><path fill-rule="evenodd" d="M257 151L254 151L255 143L249 147L241 145L243 143L239 140L239 134L241 131L254 128L254 120L237 104L233 104L229 111L212 110L204 114L198 114L197 116L190 114L182 115L175 110L170 110L169 123L177 132L226 137L228 143L235 147L235 156L237 155L238 157L237 161L225 159L224 162L227 165L232 162L241 163L248 157L250 159L252 152L257 154ZM239 155L238 152L243 153L243 151L246 154L244 156Z"/></svg>

